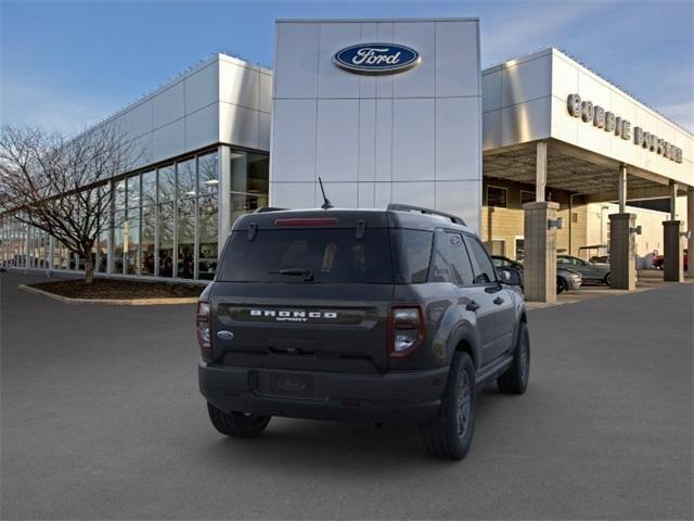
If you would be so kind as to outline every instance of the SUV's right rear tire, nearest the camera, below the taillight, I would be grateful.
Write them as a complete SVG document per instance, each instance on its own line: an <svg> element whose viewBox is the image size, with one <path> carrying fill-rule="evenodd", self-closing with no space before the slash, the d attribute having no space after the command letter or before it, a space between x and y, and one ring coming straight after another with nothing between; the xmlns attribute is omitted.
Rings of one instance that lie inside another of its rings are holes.
<svg viewBox="0 0 694 521"><path fill-rule="evenodd" d="M430 454L463 459L475 432L475 366L467 353L455 353L436 417L420 428Z"/></svg>

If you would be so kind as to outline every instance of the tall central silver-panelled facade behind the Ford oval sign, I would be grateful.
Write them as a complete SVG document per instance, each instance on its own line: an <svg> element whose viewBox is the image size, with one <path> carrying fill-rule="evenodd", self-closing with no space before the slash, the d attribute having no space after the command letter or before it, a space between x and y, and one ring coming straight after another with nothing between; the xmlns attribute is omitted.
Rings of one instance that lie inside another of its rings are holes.
<svg viewBox="0 0 694 521"><path fill-rule="evenodd" d="M350 46L404 46L419 62L345 69L335 56ZM409 203L479 227L478 20L280 21L274 71L273 205L320 206L320 177L343 207Z"/></svg>

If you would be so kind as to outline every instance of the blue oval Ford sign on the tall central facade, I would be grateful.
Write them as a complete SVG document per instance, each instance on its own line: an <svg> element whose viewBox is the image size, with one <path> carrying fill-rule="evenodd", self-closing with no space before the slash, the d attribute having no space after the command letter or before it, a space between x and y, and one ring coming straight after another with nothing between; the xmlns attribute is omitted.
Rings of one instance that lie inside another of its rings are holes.
<svg viewBox="0 0 694 521"><path fill-rule="evenodd" d="M416 67L422 58L409 47L396 43L360 43L337 51L333 62L357 74L396 74Z"/></svg>

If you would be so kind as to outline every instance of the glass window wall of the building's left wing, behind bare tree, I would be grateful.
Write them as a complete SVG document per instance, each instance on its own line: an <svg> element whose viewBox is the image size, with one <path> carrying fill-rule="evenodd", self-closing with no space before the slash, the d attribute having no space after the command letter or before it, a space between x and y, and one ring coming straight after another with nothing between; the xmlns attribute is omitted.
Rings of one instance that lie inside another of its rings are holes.
<svg viewBox="0 0 694 521"><path fill-rule="evenodd" d="M232 151L232 219L268 204L268 156ZM211 151L111 182L112 209L94 244L95 271L210 280L217 269L219 154ZM83 269L65 244L11 216L0 220L0 263ZM49 263L52 258L52 265Z"/></svg>

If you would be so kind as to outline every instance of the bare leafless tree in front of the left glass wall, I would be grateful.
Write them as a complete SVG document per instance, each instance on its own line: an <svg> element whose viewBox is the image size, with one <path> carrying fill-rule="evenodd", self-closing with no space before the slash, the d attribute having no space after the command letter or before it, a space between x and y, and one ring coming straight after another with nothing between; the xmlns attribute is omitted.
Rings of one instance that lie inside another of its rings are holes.
<svg viewBox="0 0 694 521"><path fill-rule="evenodd" d="M85 258L93 281L92 249L107 230L113 190L108 180L131 170L140 151L114 123L77 138L34 127L2 128L0 212L47 231Z"/></svg>

